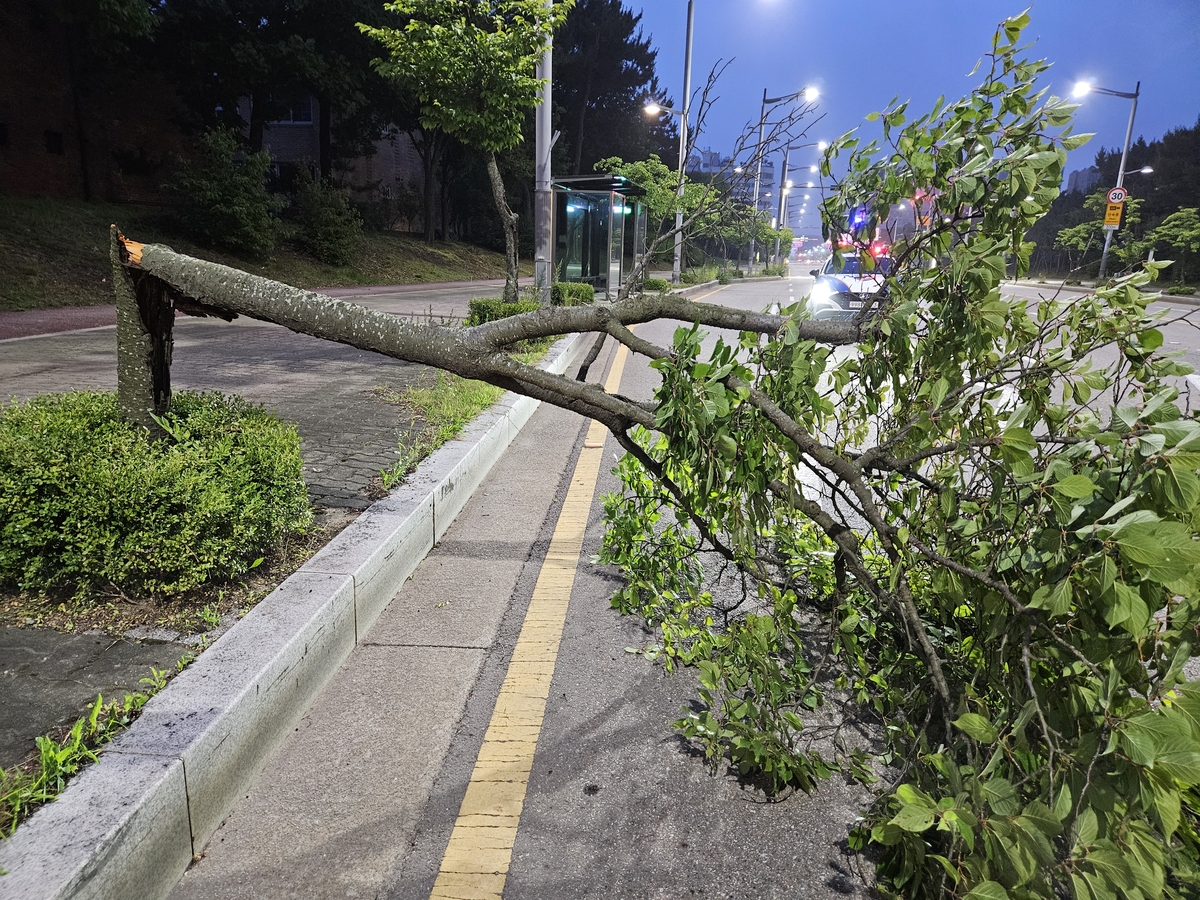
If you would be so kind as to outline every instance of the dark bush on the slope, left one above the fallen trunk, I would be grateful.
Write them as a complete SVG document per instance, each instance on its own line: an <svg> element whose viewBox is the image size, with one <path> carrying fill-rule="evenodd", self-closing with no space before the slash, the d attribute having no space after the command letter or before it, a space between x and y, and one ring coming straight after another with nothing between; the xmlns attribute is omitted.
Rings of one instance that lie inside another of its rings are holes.
<svg viewBox="0 0 1200 900"><path fill-rule="evenodd" d="M184 199L184 226L212 246L264 256L275 247L272 212L281 203L266 191L271 157L242 154L232 128L204 132L197 144L199 162L182 162L173 188Z"/></svg>

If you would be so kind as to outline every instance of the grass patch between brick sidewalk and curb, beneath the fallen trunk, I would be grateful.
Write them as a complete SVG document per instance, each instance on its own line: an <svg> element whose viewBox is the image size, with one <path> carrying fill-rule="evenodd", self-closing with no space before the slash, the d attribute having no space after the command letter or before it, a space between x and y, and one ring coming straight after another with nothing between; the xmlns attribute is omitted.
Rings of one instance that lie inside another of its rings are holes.
<svg viewBox="0 0 1200 900"><path fill-rule="evenodd" d="M529 342L532 346L514 353L514 359L533 365L550 347L550 338ZM485 382L462 378L449 372L437 372L432 383L424 382L397 391L388 385L374 389L374 396L413 413L414 432L400 444L400 458L379 473L384 491L404 482L404 479L448 440L454 440L480 413L498 401L504 391Z"/></svg>

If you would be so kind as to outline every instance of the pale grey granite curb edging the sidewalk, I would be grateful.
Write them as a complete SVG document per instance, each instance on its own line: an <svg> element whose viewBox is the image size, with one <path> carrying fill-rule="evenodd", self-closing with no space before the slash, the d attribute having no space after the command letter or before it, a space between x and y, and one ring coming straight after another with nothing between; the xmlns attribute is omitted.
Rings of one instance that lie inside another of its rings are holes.
<svg viewBox="0 0 1200 900"><path fill-rule="evenodd" d="M563 373L590 342L556 343ZM0 842L11 900L166 898L538 408L506 394L330 541Z"/></svg>

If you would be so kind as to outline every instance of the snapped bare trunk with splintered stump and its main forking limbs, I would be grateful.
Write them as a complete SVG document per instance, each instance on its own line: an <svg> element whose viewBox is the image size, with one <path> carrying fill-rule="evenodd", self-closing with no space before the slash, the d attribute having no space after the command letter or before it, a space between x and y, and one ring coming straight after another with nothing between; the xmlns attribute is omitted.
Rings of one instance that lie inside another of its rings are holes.
<svg viewBox="0 0 1200 900"><path fill-rule="evenodd" d="M170 322L176 311L271 322L300 334L487 382L620 432L632 425L654 427L654 413L646 404L607 394L600 385L527 366L506 348L533 338L595 332L616 337L635 353L654 359L670 352L637 337L629 325L673 319L774 334L788 323L785 316L656 294L612 305L547 306L473 328L431 325L194 259L162 245L137 244L126 240L115 226L113 259L120 270L114 278L118 304L125 311L119 312L122 324L118 341L127 348L118 367L118 391L127 398L122 400L121 412L133 421L149 422L148 427L154 427L151 412L166 410L156 403L166 398L169 406ZM852 343L859 334L857 326L845 322L793 320L793 326L800 338L833 344ZM156 371L157 380L151 374Z"/></svg>

